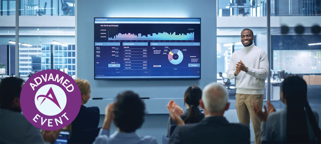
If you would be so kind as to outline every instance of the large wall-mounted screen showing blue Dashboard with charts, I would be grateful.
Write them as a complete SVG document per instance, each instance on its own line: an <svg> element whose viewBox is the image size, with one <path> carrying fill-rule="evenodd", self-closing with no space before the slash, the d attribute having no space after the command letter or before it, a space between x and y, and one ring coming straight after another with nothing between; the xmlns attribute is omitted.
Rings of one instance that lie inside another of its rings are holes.
<svg viewBox="0 0 321 144"><path fill-rule="evenodd" d="M200 79L200 18L94 18L95 79Z"/></svg>

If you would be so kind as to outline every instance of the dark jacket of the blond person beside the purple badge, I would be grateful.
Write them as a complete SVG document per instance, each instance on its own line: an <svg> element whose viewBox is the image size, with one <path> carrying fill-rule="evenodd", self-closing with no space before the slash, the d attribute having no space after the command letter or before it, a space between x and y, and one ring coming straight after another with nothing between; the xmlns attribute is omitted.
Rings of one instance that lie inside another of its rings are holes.
<svg viewBox="0 0 321 144"><path fill-rule="evenodd" d="M99 124L99 114L98 107L86 107L82 105L77 117L71 124L71 129L80 130L97 128Z"/></svg>

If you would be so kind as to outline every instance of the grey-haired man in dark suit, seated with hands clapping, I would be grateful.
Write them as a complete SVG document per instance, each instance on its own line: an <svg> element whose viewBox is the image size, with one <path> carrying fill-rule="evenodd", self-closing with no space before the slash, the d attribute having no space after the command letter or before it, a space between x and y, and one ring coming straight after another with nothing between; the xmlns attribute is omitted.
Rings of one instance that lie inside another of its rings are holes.
<svg viewBox="0 0 321 144"><path fill-rule="evenodd" d="M230 106L224 86L217 83L206 85L200 105L204 109L204 119L186 125L179 108L168 106L170 117L178 124L169 143L250 143L250 130L246 125L229 123L223 117Z"/></svg>

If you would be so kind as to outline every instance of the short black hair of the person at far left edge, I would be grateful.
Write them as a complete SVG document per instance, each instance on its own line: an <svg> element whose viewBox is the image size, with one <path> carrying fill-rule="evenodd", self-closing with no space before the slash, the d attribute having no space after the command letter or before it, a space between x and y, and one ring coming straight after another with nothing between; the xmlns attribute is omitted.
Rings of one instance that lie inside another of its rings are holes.
<svg viewBox="0 0 321 144"><path fill-rule="evenodd" d="M15 97L20 98L23 80L18 77L6 77L0 82L0 107L11 109Z"/></svg>

